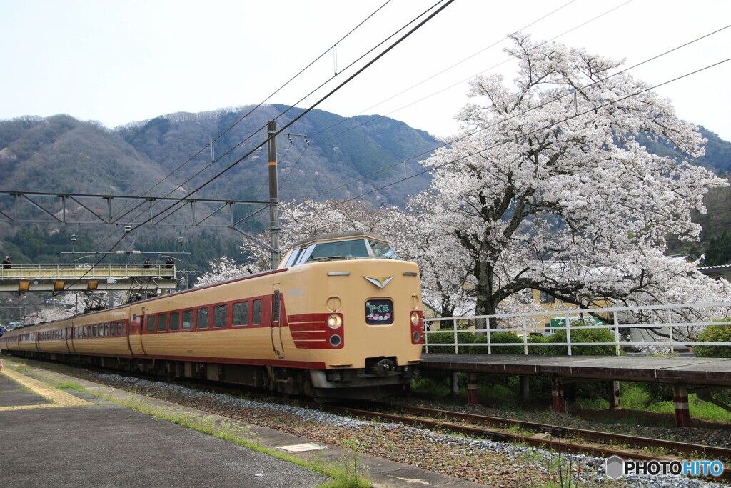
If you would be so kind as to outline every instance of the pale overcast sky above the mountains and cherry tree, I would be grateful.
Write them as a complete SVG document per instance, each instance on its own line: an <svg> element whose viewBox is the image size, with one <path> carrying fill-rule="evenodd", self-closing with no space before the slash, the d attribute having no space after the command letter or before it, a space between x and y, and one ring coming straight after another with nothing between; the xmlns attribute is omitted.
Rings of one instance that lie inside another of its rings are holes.
<svg viewBox="0 0 731 488"><path fill-rule="evenodd" d="M352 61L436 1L0 0L0 119L68 113L113 128L257 104L385 4L269 99L306 108L325 91L306 94L336 71L325 88L344 81ZM466 80L515 76L503 52L511 32L629 67L729 24L727 0L455 0L318 108L448 136L468 102ZM729 58L725 29L631 72L658 85ZM730 80L731 61L657 91L683 119L731 140Z"/></svg>

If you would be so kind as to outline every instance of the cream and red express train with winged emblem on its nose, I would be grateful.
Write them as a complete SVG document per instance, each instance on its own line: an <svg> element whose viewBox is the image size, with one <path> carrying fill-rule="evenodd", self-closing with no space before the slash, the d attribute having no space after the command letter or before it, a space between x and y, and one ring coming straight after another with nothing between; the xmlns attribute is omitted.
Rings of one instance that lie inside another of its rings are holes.
<svg viewBox="0 0 731 488"><path fill-rule="evenodd" d="M423 342L419 269L387 242L329 234L272 271L0 337L4 353L318 399L403 391Z"/></svg>

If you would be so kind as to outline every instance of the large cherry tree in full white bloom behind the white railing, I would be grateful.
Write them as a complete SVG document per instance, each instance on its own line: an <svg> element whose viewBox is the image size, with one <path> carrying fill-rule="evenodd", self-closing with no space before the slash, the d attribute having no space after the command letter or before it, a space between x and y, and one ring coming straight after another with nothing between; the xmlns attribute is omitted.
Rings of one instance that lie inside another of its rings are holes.
<svg viewBox="0 0 731 488"><path fill-rule="evenodd" d="M662 254L667 235L698 239L691 213L705 212L705 192L726 183L648 153L643 140L697 157L696 127L618 62L512 39L514 84L500 75L473 80L477 102L458 113L460 137L425 162L439 195L429 225L458 243L452 254L469 257L477 314L494 314L529 288L580 305L677 300L685 285L728 296L692 264Z"/></svg>

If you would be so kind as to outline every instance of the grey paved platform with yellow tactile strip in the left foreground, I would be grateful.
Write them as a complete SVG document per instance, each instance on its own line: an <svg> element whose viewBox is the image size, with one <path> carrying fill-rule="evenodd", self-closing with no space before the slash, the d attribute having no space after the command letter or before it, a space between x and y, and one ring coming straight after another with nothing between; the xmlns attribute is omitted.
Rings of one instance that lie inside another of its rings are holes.
<svg viewBox="0 0 731 488"><path fill-rule="evenodd" d="M24 366L2 357L0 370L0 479L15 487L317 487L330 478L140 413L117 402L186 412L214 423L230 419L128 391ZM94 395L59 389L75 383ZM96 395L102 395L97 397ZM292 457L338 465L337 446L307 451L311 440L256 425L246 426L259 446ZM304 448L303 448L304 446ZM319 446L322 447L322 446ZM408 446L404 446L408 448ZM363 455L374 487L478 487L387 459Z"/></svg>

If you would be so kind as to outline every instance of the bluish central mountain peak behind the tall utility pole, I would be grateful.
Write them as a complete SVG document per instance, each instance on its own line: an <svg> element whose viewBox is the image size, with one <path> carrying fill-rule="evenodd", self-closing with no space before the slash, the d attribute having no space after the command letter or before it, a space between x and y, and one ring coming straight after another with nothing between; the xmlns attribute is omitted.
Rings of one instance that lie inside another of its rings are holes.
<svg viewBox="0 0 731 488"><path fill-rule="evenodd" d="M129 124L117 129L116 133L165 171L173 171L205 148L175 173L175 181L187 181L182 185L183 192L200 187L245 157L225 173L224 178L208 184L200 195L261 200L268 198L267 147L254 151L251 156L246 155L266 139L267 122L287 107L264 106L237 124L250 110L251 107L243 107L197 114L171 114L144 123ZM284 127L301 113L302 109L289 110L276 121L277 127ZM366 123L368 121L371 122ZM206 146L230 127L232 129L213 142L213 159L216 162L211 165L211 149ZM322 110L312 110L280 135L277 145L279 196L281 200L294 200L320 195L353 180L357 181L338 188L337 192L325 193L325 198L352 198L377 189L404 174L401 161L414 154L425 154L423 157L426 157L439 143L426 132L387 117L346 119ZM393 165L396 167L390 168ZM413 175L422 167L413 160L407 162L406 170ZM402 206L409 196L427 187L429 181L428 175L409 179L395 189L380 192L371 200Z"/></svg>

